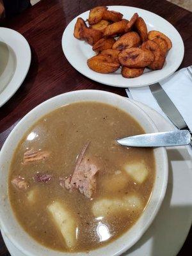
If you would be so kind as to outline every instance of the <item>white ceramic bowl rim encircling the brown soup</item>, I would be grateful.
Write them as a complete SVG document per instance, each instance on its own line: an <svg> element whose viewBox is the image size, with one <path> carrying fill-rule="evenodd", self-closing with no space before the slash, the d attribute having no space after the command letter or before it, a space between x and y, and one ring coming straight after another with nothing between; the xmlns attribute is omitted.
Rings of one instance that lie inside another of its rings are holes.
<svg viewBox="0 0 192 256"><path fill-rule="evenodd" d="M130 115L134 116L138 122L142 125L146 132L156 132L157 128L152 120L142 111L136 104L130 100L125 99L119 95L109 92L97 91L97 90L83 90L76 92L64 93L58 95L52 99L49 99L35 109L30 111L28 115L24 116L22 120L15 126L13 131L8 136L6 142L1 149L0 154L0 224L3 232L12 241L12 243L19 248L19 250L28 255L36 256L56 256L56 255L76 255L76 253L60 253L54 252L36 243L35 240L22 230L19 223L13 216L12 209L8 200L7 191L7 179L10 162L13 156L14 149L21 140L23 134L29 129L29 127L36 122L42 115L49 113L50 111L69 104L72 102L79 101L97 101L112 104L120 109L123 109ZM112 103L113 102L113 103ZM147 230L149 225L154 220L154 217L159 210L161 203L163 202L164 193L166 191L167 179L168 179L168 162L165 148L154 149L154 156L156 158L156 181L152 196L148 205L141 215L140 219L136 224L123 236L116 239L113 243L107 244L106 246L97 250L91 251L88 255L99 256L99 255L120 255L130 248L143 233ZM78 253L79 256L87 255L87 253Z"/></svg>

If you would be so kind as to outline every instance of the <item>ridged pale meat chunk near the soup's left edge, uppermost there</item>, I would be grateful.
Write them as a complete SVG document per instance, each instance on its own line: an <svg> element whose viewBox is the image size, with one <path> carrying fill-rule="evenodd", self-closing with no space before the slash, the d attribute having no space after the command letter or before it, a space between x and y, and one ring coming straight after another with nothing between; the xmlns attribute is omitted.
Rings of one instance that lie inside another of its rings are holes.
<svg viewBox="0 0 192 256"><path fill-rule="evenodd" d="M30 149L24 153L23 163L26 164L33 161L44 160L47 157L49 157L49 155L50 155L50 152L48 151Z"/></svg>

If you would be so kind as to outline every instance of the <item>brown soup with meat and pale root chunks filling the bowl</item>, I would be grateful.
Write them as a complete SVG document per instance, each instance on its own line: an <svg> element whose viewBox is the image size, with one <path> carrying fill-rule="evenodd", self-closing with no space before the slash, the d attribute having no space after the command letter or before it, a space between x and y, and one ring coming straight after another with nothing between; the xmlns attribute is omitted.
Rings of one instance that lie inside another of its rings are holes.
<svg viewBox="0 0 192 256"><path fill-rule="evenodd" d="M83 252L129 230L145 210L155 179L150 148L116 138L144 133L108 104L77 102L43 116L13 155L8 191L20 225L36 241Z"/></svg>

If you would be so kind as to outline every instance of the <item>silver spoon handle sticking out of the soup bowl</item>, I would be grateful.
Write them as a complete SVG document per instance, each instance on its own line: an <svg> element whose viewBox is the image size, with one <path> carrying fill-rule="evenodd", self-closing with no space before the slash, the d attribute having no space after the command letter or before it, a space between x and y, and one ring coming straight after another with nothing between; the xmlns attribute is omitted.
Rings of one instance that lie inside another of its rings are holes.
<svg viewBox="0 0 192 256"><path fill-rule="evenodd" d="M191 141L191 134L188 130L155 132L130 136L116 141L127 147L172 147L188 145Z"/></svg>

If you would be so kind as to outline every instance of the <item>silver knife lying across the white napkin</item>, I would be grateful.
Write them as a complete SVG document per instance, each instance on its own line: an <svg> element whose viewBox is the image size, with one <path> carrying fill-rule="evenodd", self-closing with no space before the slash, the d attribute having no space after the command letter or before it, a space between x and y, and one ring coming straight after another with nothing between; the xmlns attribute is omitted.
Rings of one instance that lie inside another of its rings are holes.
<svg viewBox="0 0 192 256"><path fill-rule="evenodd" d="M171 122L179 129L183 130L186 129L190 132L191 131L182 118L182 115L180 115L179 110L175 107L172 100L166 92L164 92L163 88L161 87L161 84L156 83L149 86L150 91L152 92L152 95L156 99L157 103L159 104L160 108L163 110L163 112L168 116L168 118L171 120ZM190 145L192 146L192 141L190 141Z"/></svg>

